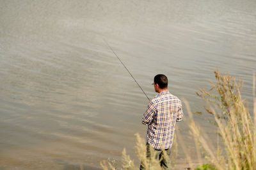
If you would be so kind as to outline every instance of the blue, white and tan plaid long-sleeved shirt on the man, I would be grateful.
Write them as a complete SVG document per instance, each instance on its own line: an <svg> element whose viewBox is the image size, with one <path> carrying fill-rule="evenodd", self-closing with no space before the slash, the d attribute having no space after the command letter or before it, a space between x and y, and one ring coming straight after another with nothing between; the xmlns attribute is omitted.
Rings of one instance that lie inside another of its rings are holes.
<svg viewBox="0 0 256 170"><path fill-rule="evenodd" d="M182 120L181 101L170 92L159 93L148 104L142 124L148 125L147 142L156 150L172 147L175 123Z"/></svg>

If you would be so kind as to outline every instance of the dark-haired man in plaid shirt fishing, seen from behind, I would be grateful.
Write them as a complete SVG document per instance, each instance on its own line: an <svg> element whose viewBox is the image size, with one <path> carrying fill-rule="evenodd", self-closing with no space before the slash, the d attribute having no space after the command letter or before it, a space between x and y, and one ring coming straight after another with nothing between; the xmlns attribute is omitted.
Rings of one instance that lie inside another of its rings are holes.
<svg viewBox="0 0 256 170"><path fill-rule="evenodd" d="M164 74L154 77L154 88L157 93L143 115L142 124L148 125L147 130L147 157L150 157L150 148L156 151L156 159L159 159L162 169L168 167L170 148L173 143L175 123L182 120L182 104L178 97L168 91L168 79ZM167 154L164 154L164 151ZM168 157L164 157L168 155ZM141 162L140 169L145 169Z"/></svg>

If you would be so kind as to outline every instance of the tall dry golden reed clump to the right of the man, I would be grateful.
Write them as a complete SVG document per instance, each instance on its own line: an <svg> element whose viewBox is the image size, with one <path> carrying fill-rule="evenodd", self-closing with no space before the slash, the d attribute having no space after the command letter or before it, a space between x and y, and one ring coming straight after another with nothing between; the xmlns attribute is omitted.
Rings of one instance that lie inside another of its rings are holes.
<svg viewBox="0 0 256 170"><path fill-rule="evenodd" d="M207 152L208 159L216 169L256 169L256 101L255 79L253 78L253 118L250 115L248 104L241 97L243 81L236 81L235 76L225 75L214 71L216 82L212 89L217 95L200 89L196 92L205 100L205 110L214 117L218 127L218 135L223 142L224 152L214 152L210 140L205 138L199 125L195 123L193 114L188 107L189 127L194 138Z"/></svg>

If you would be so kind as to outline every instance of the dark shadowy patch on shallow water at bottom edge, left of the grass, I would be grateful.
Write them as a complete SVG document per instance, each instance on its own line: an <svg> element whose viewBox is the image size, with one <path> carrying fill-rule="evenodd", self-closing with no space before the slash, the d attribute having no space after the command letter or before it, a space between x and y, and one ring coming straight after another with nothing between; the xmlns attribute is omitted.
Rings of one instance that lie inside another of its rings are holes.
<svg viewBox="0 0 256 170"><path fill-rule="evenodd" d="M66 162L65 160L61 159L54 159L54 162L56 164L59 164L63 166L62 170L100 170L101 168L99 167L93 167L90 165L84 165L84 164L70 164L70 162Z"/></svg>

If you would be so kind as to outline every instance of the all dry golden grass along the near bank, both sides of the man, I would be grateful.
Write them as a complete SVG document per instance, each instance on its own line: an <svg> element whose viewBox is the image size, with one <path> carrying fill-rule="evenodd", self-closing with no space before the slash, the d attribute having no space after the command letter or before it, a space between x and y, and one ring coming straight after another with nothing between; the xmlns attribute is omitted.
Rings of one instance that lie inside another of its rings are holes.
<svg viewBox="0 0 256 170"><path fill-rule="evenodd" d="M204 136L204 132L193 119L193 113L188 108L189 128L195 138L196 152L198 159L202 153L206 153L206 159L209 164L202 164L195 167L196 170L217 170L217 169L256 169L256 100L255 88L253 88L253 118L248 109L248 104L241 97L243 82L236 81L234 76L225 75L219 71L214 71L216 83L212 83L212 89L215 94L211 94L204 89L196 94L207 103L205 110L214 118L214 124L218 128L218 136L223 147L218 146L216 151L211 147L211 139ZM255 80L253 79L253 87ZM159 161L154 159L154 153L150 160L146 157L145 141L137 136L137 155L138 159L145 162L147 169L161 169ZM222 146L222 145L221 145ZM175 147L175 146L174 146ZM177 146L176 146L177 147ZM173 152L172 152L173 154ZM204 154L205 155L205 154ZM189 157L189 155L187 155ZM175 162L174 160L171 163ZM111 161L103 160L100 165L104 170L117 169ZM172 164L175 167L175 164ZM191 163L191 167L194 167ZM122 168L120 169L139 169L134 165L129 155L122 153Z"/></svg>

